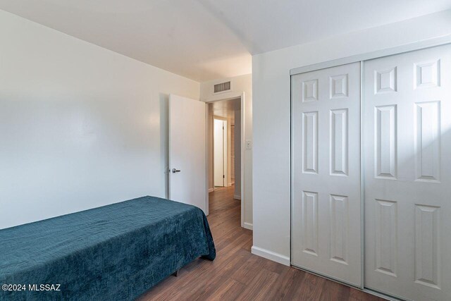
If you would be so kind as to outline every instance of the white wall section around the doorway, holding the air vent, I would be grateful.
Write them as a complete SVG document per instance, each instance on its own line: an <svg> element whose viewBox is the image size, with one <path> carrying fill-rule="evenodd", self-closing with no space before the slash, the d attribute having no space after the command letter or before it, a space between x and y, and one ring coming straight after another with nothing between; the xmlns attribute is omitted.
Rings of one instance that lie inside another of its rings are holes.
<svg viewBox="0 0 451 301"><path fill-rule="evenodd" d="M230 92L213 94L213 85L228 80L230 80L232 85ZM214 102L221 99L240 97L242 92L245 92L245 140L251 140L252 142L252 75L247 74L234 78L221 78L209 82L201 82L200 84L200 100L203 102ZM245 160L244 199L242 196L242 203L245 204L244 226L252 229L252 149L245 149L245 157L242 159Z"/></svg>

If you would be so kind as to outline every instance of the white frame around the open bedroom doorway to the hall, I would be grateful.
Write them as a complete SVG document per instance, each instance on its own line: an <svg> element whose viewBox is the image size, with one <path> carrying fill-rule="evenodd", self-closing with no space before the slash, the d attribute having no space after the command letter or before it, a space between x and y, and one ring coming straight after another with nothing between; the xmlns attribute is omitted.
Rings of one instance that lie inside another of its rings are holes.
<svg viewBox="0 0 451 301"><path fill-rule="evenodd" d="M245 92L227 92L224 93L223 98L220 98L218 96L214 96L214 97L210 97L209 99L205 99L205 100L201 100L201 102L205 102L206 104L210 104L212 102L221 102L223 100L232 100L232 99L237 99L240 98L241 102L240 102L240 106L241 106L241 116L240 116L240 125L241 125L241 129L240 129L240 156L241 156L241 164L240 164L240 183L241 183L241 191L240 191L240 202L241 202L241 227L242 228L247 228L245 226ZM209 116L209 108L208 106L205 106L205 114L206 114L206 130L205 130L205 135L206 135L206 141L208 142L210 137L209 137L209 121L208 121L208 116ZM208 154L208 143L205 143L205 147L206 147L206 154ZM205 203L206 203L206 212L208 215L209 214L209 162L208 162L208 156L205 156L205 160L206 160L206 177L205 177L205 181L206 181L206 197L205 197ZM235 181L236 183L236 181Z"/></svg>

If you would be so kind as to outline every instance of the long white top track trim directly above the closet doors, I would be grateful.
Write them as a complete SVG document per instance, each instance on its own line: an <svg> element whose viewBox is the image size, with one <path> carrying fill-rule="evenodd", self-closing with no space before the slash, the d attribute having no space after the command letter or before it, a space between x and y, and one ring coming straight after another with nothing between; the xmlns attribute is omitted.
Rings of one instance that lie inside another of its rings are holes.
<svg viewBox="0 0 451 301"><path fill-rule="evenodd" d="M302 66L299 68L293 68L290 70L290 75L296 75L299 73L305 73L309 71L325 69L347 63L355 63L357 61L368 61L371 59L378 59L383 56L391 56L393 54L402 54L403 52L415 51L419 49L425 49L429 47L440 46L443 44L451 43L451 35L443 35L440 37L434 37L432 39L424 39L418 42L400 45L397 47L391 47L387 49L380 49L376 51L366 52L365 54L357 54L354 56L347 56L342 59L335 59L333 61L325 61L322 63L314 63L313 65Z"/></svg>

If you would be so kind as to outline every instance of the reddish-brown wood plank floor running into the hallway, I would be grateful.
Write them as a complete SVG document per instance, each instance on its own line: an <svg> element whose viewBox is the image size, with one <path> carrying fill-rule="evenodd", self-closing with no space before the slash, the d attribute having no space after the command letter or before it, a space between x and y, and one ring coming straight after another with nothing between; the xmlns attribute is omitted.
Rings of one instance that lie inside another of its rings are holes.
<svg viewBox="0 0 451 301"><path fill-rule="evenodd" d="M139 300L383 300L251 254L252 231L240 226L233 186L210 193L216 259L197 259Z"/></svg>

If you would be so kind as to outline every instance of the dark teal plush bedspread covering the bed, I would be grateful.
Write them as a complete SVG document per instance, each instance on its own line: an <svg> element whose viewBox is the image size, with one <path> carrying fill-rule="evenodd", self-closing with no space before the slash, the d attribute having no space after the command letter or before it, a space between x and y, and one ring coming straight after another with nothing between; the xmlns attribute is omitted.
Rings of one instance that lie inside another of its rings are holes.
<svg viewBox="0 0 451 301"><path fill-rule="evenodd" d="M197 257L216 257L204 212L140 197L0 230L0 285L25 285L0 300L132 300Z"/></svg>

